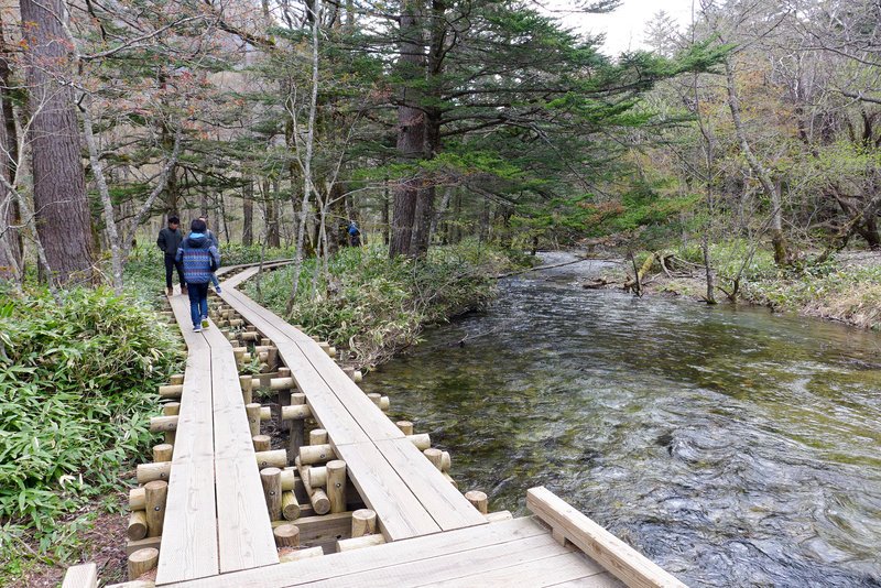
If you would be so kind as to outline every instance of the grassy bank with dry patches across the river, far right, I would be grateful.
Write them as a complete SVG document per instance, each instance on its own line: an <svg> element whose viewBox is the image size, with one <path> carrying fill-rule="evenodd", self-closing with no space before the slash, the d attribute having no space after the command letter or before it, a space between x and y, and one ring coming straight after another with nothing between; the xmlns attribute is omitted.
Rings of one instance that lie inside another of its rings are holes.
<svg viewBox="0 0 881 588"><path fill-rule="evenodd" d="M675 268L667 275L655 263L645 279L645 290L701 300L706 281L703 268L698 268L703 265L700 250L681 247L666 251L675 251L694 265ZM638 254L637 266L648 255ZM747 255L747 246L741 241L711 246L716 280L726 291L730 291L731 283L722 276L737 275ZM781 269L770 251L757 251L743 268L738 301L881 330L881 253L842 251L823 263L812 263L811 257ZM607 279L622 282L626 273L633 273L629 263L609 272ZM725 300L725 292L717 291L716 297Z"/></svg>

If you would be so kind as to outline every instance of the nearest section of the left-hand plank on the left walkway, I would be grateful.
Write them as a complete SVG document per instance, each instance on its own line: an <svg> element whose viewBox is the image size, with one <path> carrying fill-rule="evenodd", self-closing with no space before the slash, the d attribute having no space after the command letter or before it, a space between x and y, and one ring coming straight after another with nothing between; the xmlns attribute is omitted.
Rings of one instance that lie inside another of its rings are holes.
<svg viewBox="0 0 881 588"><path fill-rule="evenodd" d="M215 576L218 573L214 459L173 465L156 585Z"/></svg>

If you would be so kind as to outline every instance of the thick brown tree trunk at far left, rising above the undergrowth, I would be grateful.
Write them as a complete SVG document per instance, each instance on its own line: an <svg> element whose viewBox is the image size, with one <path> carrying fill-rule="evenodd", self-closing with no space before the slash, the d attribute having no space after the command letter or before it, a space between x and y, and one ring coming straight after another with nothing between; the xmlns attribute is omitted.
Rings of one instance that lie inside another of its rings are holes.
<svg viewBox="0 0 881 588"><path fill-rule="evenodd" d="M21 0L24 28L25 83L30 91L34 213L46 259L58 282L91 280L95 232L86 197L79 149L79 126L73 89L59 83L70 59L61 19L61 0Z"/></svg>

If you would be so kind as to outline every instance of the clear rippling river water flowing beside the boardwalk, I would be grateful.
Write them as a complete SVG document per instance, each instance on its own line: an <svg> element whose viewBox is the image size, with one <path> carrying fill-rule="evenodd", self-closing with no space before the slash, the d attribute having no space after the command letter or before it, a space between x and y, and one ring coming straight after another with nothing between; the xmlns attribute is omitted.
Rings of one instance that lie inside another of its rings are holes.
<svg viewBox="0 0 881 588"><path fill-rule="evenodd" d="M601 263L503 280L362 388L490 510L543 484L692 587L881 586L881 337L581 288Z"/></svg>

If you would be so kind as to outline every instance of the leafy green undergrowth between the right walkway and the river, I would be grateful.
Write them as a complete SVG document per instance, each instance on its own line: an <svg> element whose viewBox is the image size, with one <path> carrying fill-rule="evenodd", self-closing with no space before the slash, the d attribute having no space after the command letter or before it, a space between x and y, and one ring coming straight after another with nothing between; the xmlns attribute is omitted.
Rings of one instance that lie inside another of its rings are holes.
<svg viewBox="0 0 881 588"><path fill-rule="evenodd" d="M514 261L512 261L514 260ZM531 261L531 259L529 260ZM304 263L289 322L303 325L360 367L377 366L417 341L421 329L480 308L493 296L496 276L527 260L476 241L431 250L427 260L389 259L382 246L347 248L328 263ZM249 295L284 316L295 269L267 274Z"/></svg>

